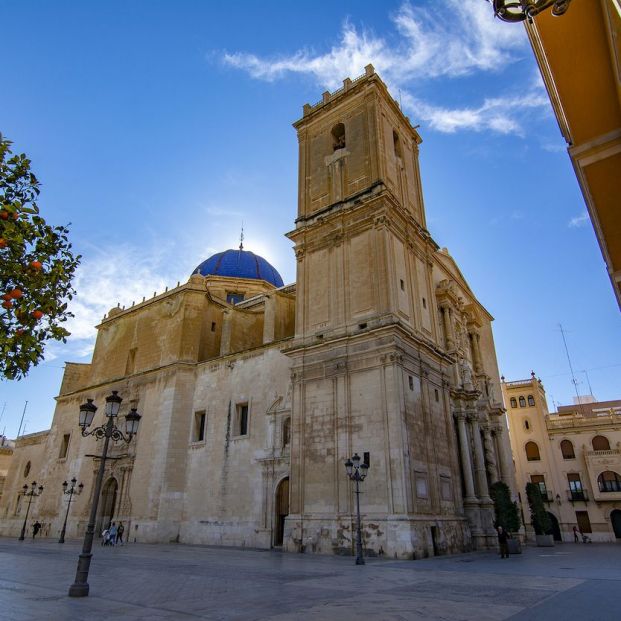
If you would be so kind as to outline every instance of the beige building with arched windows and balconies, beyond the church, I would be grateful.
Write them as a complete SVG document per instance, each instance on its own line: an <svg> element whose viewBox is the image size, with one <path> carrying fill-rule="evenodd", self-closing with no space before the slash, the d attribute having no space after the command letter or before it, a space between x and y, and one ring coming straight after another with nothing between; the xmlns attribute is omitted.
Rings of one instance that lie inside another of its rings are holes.
<svg viewBox="0 0 621 621"><path fill-rule="evenodd" d="M574 526L593 541L621 541L621 401L581 398L550 414L534 373L503 381L502 392L527 534L525 488L532 482L557 541L573 541Z"/></svg>

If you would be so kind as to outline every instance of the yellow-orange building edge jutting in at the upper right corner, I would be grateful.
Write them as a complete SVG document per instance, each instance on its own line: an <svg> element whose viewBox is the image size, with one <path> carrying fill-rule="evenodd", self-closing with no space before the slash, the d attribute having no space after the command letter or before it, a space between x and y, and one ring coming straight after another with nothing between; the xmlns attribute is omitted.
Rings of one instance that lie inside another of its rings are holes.
<svg viewBox="0 0 621 621"><path fill-rule="evenodd" d="M526 30L621 306L621 0L574 0Z"/></svg>

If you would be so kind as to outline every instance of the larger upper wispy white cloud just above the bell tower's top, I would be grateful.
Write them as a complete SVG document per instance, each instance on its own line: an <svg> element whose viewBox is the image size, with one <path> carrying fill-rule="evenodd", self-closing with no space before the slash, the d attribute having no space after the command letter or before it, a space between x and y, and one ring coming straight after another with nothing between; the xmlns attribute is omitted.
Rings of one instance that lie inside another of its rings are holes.
<svg viewBox="0 0 621 621"><path fill-rule="evenodd" d="M335 89L344 77L358 76L369 63L387 82L403 84L421 78L496 71L514 60L513 52L525 47L523 30L495 20L482 0L438 4L403 4L392 16L398 33L394 45L346 22L339 42L324 54L298 50L287 56L262 58L235 52L225 53L223 61L253 78L273 81L288 73L309 74L323 87Z"/></svg>

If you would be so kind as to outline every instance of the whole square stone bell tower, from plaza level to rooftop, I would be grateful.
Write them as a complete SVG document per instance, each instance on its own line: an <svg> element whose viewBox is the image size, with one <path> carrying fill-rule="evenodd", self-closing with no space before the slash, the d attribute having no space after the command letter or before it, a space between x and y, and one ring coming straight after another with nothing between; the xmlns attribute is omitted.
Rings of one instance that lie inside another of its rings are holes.
<svg viewBox="0 0 621 621"><path fill-rule="evenodd" d="M468 537L425 225L421 138L371 65L305 105L299 140L290 514L285 546L343 553L344 461L370 462L366 547L412 558ZM423 516L440 521L426 522ZM441 516L441 517L440 517ZM441 524L441 526L437 526ZM433 534L435 533L435 534ZM444 543L440 543L440 541ZM450 543L447 543L450 542ZM436 544L434 544L435 549Z"/></svg>

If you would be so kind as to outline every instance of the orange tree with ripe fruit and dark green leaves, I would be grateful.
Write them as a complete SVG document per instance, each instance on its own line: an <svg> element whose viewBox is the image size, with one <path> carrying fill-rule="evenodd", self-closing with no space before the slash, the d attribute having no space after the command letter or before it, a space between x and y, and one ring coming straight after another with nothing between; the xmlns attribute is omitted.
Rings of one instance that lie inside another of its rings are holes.
<svg viewBox="0 0 621 621"><path fill-rule="evenodd" d="M39 181L30 160L0 134L0 376L21 379L47 341L66 341L63 323L80 257L64 226L39 215Z"/></svg>

